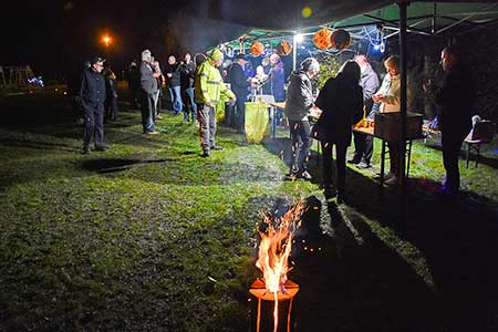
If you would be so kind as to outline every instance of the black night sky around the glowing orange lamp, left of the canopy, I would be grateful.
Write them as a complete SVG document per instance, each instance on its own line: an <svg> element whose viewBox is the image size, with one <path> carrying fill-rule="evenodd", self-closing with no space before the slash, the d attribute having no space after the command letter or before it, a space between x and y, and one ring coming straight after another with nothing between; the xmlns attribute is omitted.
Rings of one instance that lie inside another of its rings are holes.
<svg viewBox="0 0 498 332"><path fill-rule="evenodd" d="M30 64L35 74L52 76L66 72L93 54L106 56L100 37L115 39L110 60L120 68L149 48L164 50L160 27L188 0L13 0L1 22L0 64ZM175 50L172 50L175 51Z"/></svg>

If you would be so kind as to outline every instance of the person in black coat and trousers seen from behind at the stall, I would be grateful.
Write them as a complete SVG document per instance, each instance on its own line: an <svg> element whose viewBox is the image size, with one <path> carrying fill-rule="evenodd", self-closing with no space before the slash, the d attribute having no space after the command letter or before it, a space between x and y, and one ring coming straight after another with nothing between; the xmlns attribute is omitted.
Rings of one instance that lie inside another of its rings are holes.
<svg viewBox="0 0 498 332"><path fill-rule="evenodd" d="M345 196L345 155L351 143L352 126L363 115L363 92L360 85L360 65L346 61L336 77L326 81L317 98L322 110L313 136L321 141L323 154L323 185L326 198L338 195L341 204ZM332 146L335 145L338 167L336 193L332 189Z"/></svg>

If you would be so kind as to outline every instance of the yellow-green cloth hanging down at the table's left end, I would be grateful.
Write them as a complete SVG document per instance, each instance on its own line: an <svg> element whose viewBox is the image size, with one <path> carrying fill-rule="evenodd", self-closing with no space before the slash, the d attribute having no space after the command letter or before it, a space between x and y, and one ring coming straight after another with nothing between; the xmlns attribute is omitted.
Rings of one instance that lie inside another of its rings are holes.
<svg viewBox="0 0 498 332"><path fill-rule="evenodd" d="M246 103L246 139L260 143L270 135L270 116L266 103Z"/></svg>

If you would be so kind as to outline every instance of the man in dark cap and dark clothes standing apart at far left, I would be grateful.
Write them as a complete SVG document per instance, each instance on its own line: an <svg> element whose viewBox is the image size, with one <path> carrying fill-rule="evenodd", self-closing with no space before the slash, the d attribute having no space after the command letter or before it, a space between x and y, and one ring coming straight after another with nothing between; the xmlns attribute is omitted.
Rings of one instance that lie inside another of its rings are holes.
<svg viewBox="0 0 498 332"><path fill-rule="evenodd" d="M105 151L104 145L104 102L105 79L101 74L104 69L104 59L95 56L90 69L81 76L77 103L83 110L83 154L90 153L90 145L95 142L96 151Z"/></svg>

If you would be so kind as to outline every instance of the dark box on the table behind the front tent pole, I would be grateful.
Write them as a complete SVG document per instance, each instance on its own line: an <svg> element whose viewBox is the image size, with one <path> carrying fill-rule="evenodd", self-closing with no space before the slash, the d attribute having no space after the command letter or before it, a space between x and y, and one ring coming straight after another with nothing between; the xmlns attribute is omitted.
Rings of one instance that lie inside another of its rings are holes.
<svg viewBox="0 0 498 332"><path fill-rule="evenodd" d="M422 135L423 115L408 112L406 114L406 139L419 139ZM375 114L374 136L385 141L401 139L401 113Z"/></svg>

